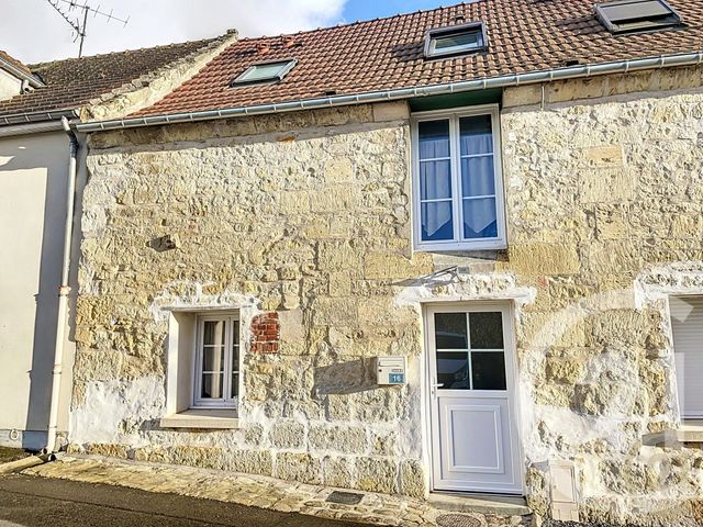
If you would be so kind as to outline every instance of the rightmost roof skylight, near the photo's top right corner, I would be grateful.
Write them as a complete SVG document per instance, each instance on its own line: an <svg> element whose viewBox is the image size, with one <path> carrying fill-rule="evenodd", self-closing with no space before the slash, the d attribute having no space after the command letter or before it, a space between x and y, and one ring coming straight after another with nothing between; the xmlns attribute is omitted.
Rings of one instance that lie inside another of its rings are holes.
<svg viewBox="0 0 703 527"><path fill-rule="evenodd" d="M611 33L652 31L681 24L681 16L666 0L596 3L595 14Z"/></svg>

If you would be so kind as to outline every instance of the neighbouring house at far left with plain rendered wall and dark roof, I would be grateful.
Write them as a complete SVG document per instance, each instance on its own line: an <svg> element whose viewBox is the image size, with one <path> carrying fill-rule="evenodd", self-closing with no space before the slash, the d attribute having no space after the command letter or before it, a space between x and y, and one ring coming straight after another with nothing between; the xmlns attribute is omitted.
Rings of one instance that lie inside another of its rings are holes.
<svg viewBox="0 0 703 527"><path fill-rule="evenodd" d="M29 67L0 52L0 446L51 450L56 433L60 445L68 431L75 291L67 285L77 276L71 220L86 149L62 117L148 106L234 37Z"/></svg>

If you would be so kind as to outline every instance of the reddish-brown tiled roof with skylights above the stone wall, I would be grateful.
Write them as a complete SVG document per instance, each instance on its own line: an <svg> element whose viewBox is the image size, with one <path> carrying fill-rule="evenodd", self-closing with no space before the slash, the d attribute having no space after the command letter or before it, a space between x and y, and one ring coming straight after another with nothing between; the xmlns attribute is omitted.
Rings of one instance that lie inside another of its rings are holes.
<svg viewBox="0 0 703 527"><path fill-rule="evenodd" d="M701 0L670 0L683 27L627 35L613 35L600 24L594 1L479 0L294 35L241 40L134 116L414 88L701 48ZM428 30L471 21L484 22L488 52L425 59ZM289 58L298 64L280 82L230 88L248 66Z"/></svg>

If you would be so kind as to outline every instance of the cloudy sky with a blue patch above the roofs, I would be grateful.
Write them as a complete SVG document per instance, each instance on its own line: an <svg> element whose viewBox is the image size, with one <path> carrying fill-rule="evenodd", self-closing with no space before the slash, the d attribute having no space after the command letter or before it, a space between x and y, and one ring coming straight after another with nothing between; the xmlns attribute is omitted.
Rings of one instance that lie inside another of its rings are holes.
<svg viewBox="0 0 703 527"><path fill-rule="evenodd" d="M70 19L70 0L52 0ZM277 35L432 9L440 0L79 0L126 25L88 16L83 55L207 38L236 29L241 36ZM459 0L457 0L458 3ZM453 3L451 1L446 3ZM70 26L49 0L0 0L0 49L25 64L78 56Z"/></svg>

